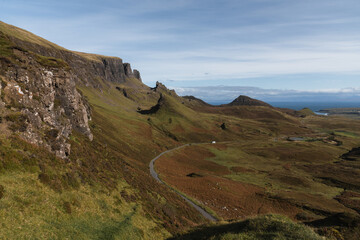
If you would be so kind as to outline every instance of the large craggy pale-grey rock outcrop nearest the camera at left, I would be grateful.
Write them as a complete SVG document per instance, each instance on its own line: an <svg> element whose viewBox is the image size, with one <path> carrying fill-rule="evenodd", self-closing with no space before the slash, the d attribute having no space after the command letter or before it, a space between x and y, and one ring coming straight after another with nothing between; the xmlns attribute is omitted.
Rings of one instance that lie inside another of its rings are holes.
<svg viewBox="0 0 360 240"><path fill-rule="evenodd" d="M28 51L17 50L14 56L16 63L0 61L8 119L25 116L13 131L61 158L70 154L68 138L74 129L92 140L90 108L76 89L76 74L66 67L44 66Z"/></svg>

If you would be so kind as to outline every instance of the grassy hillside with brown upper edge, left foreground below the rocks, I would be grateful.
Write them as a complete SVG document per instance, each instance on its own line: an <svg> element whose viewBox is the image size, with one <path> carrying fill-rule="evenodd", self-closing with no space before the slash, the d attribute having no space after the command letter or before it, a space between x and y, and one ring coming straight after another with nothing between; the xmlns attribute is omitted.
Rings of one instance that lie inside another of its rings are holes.
<svg viewBox="0 0 360 240"><path fill-rule="evenodd" d="M0 140L0 238L158 239L170 235L145 216L141 202L128 200L136 190L123 179L109 176L103 181L101 174L65 163L16 137ZM106 182L110 180L114 182Z"/></svg>

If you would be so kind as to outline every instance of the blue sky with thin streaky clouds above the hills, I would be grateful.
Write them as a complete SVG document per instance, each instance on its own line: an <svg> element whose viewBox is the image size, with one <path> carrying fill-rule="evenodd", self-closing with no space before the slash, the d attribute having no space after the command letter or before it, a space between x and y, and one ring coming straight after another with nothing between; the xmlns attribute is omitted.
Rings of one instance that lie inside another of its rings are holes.
<svg viewBox="0 0 360 240"><path fill-rule="evenodd" d="M359 13L359 0L0 0L6 23L207 101L360 102Z"/></svg>

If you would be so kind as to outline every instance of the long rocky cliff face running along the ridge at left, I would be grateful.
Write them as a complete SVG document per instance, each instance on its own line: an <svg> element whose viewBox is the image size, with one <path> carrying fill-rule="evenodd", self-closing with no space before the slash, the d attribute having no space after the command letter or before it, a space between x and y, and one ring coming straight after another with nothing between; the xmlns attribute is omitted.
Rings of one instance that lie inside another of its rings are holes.
<svg viewBox="0 0 360 240"><path fill-rule="evenodd" d="M91 110L76 85L101 88L141 78L120 58L43 46L0 31L0 80L2 124L66 158L73 130L93 138Z"/></svg>

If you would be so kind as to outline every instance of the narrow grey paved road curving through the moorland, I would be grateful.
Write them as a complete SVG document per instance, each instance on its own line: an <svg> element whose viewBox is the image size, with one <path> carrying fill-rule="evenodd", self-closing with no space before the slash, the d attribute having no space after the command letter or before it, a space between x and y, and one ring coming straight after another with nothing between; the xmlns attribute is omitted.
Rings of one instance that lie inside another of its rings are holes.
<svg viewBox="0 0 360 240"><path fill-rule="evenodd" d="M194 203L193 201L191 201L189 198L187 198L183 193L177 191L176 189L170 187L169 185L165 184L164 181L162 181L160 178L159 178L159 175L156 173L155 171L155 168L154 168L154 163L155 161L160 158L162 155L168 153L168 152L171 152L171 151L174 151L174 150L177 150L177 149L180 149L180 148L183 148L183 147L186 147L186 146L189 146L190 144L185 144L185 145L182 145L180 147L176 147L176 148L173 148L173 149L170 149L170 150L167 150L165 152L162 152L160 153L158 156L156 156L153 160L151 160L150 164L149 164L149 167L150 167L150 174L153 178L155 178L159 183L161 184L164 184L165 186L167 186L168 188L170 188L171 190L173 190L176 194L178 194L180 197L182 197L187 203L189 203L191 206L193 206L199 213L201 213L201 215L203 215L206 219L212 221L212 222L217 222L218 220L212 216L210 213L206 212L202 207L200 207L199 205L197 205L196 203Z"/></svg>

